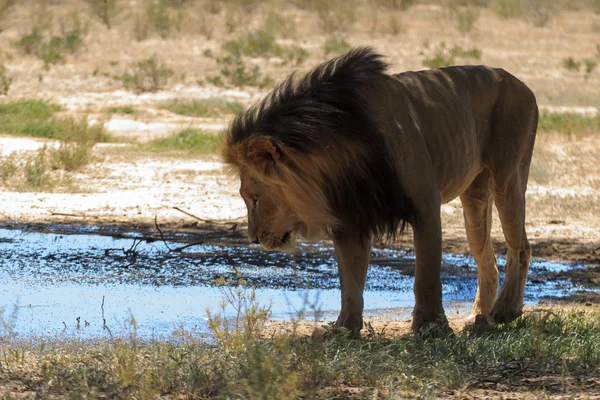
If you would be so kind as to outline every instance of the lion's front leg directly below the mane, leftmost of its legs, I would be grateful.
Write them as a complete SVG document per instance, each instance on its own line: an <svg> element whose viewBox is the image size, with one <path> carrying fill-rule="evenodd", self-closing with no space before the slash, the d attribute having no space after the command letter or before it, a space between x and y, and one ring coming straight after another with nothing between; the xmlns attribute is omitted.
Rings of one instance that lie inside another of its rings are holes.
<svg viewBox="0 0 600 400"><path fill-rule="evenodd" d="M356 234L336 232L333 235L333 244L342 289L342 311L336 327L346 328L353 335L358 335L363 325L363 291L371 255L371 242Z"/></svg>

